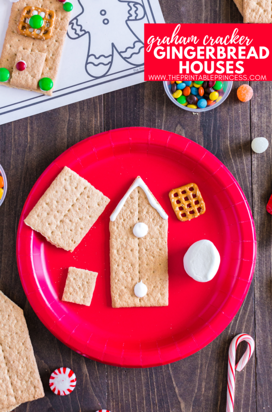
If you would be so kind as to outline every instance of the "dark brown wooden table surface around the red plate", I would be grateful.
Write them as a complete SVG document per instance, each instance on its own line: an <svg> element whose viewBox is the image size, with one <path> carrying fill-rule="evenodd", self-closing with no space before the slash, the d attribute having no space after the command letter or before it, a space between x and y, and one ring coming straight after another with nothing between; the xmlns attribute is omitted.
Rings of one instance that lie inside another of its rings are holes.
<svg viewBox="0 0 272 412"><path fill-rule="evenodd" d="M232 0L160 3L168 23L242 23ZM24 310L45 388L45 398L21 405L17 412L226 411L227 351L231 338L240 332L255 338L256 351L236 373L235 412L272 411L272 216L266 212L272 193L272 145L263 154L251 151L254 137L270 140L272 91L271 82L254 82L252 100L241 103L238 86L234 83L219 108L198 115L172 104L161 82L148 82L0 126L0 163L8 181L0 207L0 290ZM247 197L258 243L254 280L227 329L187 359L142 370L102 365L58 341L29 305L16 265L20 213L45 168L78 141L128 126L175 132L217 156ZM241 356L245 346L240 346ZM70 396L56 396L48 387L50 371L59 366L76 372L77 387Z"/></svg>

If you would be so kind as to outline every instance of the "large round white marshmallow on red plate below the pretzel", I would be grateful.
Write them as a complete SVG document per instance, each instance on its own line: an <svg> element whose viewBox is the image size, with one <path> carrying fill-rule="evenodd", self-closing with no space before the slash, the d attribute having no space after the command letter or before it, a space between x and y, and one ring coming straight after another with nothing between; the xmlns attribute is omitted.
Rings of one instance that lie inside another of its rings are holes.
<svg viewBox="0 0 272 412"><path fill-rule="evenodd" d="M185 272L198 282L208 282L218 271L220 254L210 240L193 243L183 258Z"/></svg>

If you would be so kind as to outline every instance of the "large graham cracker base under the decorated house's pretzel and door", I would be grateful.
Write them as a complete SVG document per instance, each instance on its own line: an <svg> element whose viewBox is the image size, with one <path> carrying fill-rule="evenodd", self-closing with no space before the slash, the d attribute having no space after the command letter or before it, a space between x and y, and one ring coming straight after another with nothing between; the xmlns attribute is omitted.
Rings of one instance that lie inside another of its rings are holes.
<svg viewBox="0 0 272 412"><path fill-rule="evenodd" d="M56 14L52 37L47 40L33 39L26 37L17 32L18 22L25 6L43 7L53 10ZM0 83L7 87L15 87L16 89L32 90L47 95L52 95L53 89L45 92L38 88L32 87L33 84L26 81L26 77L20 77L21 81L16 80L11 82L13 77L13 70L16 56L19 51L27 50L31 52L45 53L46 58L43 65L41 77L49 77L55 85L60 57L64 46L66 32L69 25L71 12L63 9L63 3L58 0L19 0L12 4L11 13L9 17L8 27L0 57L0 67L5 67L9 73L10 78L7 83ZM29 76L35 77L34 84L36 85L37 69L31 65L27 66ZM17 71L17 70L16 70ZM40 79L37 79L40 80ZM13 83L13 84L12 84Z"/></svg>

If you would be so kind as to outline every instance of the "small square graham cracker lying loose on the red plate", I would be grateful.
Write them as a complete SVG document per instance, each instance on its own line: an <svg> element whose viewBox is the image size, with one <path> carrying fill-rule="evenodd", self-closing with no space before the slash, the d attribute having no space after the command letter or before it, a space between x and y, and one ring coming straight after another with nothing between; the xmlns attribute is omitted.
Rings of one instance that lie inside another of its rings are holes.
<svg viewBox="0 0 272 412"><path fill-rule="evenodd" d="M97 275L97 272L69 268L61 300L90 306Z"/></svg>

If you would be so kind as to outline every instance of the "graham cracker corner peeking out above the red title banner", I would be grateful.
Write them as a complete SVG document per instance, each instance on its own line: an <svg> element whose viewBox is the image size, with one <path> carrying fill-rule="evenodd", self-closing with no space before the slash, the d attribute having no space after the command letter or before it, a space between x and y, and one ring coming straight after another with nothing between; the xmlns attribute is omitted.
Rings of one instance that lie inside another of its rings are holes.
<svg viewBox="0 0 272 412"><path fill-rule="evenodd" d="M244 23L271 23L271 0L243 0Z"/></svg>

